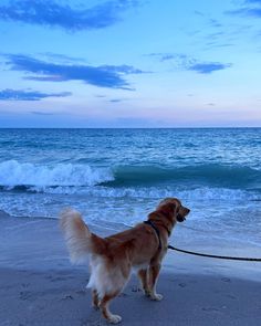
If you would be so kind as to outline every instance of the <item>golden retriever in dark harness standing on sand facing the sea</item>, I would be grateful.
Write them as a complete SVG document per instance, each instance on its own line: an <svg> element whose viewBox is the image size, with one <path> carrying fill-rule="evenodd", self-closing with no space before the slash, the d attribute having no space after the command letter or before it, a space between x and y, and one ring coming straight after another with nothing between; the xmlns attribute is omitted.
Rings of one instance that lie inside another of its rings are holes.
<svg viewBox="0 0 261 326"><path fill-rule="evenodd" d="M137 270L144 294L154 301L163 298L156 292L156 283L168 238L175 224L186 220L189 211L177 198L166 198L148 214L147 221L107 238L92 233L77 211L67 209L61 213L71 261L90 261L87 287L92 288L92 303L108 323L122 320L109 312L108 305L124 288L133 267Z"/></svg>

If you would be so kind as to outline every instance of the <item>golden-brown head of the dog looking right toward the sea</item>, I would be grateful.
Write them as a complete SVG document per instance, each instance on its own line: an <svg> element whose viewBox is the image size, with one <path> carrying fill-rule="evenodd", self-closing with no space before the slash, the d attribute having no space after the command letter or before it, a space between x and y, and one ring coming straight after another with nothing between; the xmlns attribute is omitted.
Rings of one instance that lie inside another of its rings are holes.
<svg viewBox="0 0 261 326"><path fill-rule="evenodd" d="M176 221L182 222L186 220L190 210L181 204L177 198L166 198L161 200L157 207L157 211L171 219L175 224Z"/></svg>

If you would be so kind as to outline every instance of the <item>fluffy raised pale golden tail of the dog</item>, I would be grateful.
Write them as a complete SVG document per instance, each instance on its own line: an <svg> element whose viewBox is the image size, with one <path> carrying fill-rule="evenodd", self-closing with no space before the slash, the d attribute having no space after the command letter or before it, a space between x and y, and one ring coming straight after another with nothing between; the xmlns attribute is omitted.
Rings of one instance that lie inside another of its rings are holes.
<svg viewBox="0 0 261 326"><path fill-rule="evenodd" d="M84 263L88 254L102 255L105 252L106 241L90 232L80 212L66 209L60 221L72 263Z"/></svg>

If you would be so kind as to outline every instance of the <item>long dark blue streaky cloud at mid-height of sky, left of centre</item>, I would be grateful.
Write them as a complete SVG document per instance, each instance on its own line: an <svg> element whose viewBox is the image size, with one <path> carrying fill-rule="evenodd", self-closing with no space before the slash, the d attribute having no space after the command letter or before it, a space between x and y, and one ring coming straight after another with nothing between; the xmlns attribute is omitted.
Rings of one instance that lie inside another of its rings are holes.
<svg viewBox="0 0 261 326"><path fill-rule="evenodd" d="M82 81L98 87L132 90L124 75L142 74L129 65L58 64L38 60L27 55L9 54L8 64L13 71L23 71L35 75L25 76L27 80L39 82Z"/></svg>

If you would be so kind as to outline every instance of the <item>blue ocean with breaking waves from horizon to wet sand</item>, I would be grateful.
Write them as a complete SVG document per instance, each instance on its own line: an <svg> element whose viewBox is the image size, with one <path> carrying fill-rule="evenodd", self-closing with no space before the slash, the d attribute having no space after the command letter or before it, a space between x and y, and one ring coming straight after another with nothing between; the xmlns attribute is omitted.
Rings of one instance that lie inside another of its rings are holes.
<svg viewBox="0 0 261 326"><path fill-rule="evenodd" d="M0 129L0 210L12 215L71 206L121 230L166 197L191 210L187 243L260 248L261 128Z"/></svg>

